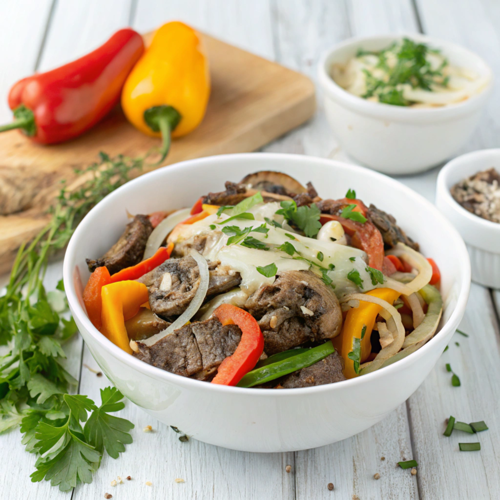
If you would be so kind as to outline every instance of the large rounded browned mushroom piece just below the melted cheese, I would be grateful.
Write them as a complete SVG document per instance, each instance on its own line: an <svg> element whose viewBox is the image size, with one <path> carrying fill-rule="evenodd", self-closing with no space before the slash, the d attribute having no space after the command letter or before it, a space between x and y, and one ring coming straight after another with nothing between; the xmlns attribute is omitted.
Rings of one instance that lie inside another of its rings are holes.
<svg viewBox="0 0 500 500"><path fill-rule="evenodd" d="M278 273L273 284L260 286L248 297L245 308L259 323L266 354L332 338L342 326L337 297L311 271Z"/></svg>

